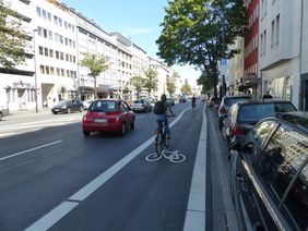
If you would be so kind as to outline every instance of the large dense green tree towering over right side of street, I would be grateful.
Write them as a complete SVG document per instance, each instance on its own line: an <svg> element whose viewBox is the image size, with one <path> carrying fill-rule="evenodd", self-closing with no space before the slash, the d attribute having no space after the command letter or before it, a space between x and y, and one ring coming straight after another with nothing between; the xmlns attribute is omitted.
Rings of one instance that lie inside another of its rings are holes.
<svg viewBox="0 0 308 231"><path fill-rule="evenodd" d="M216 86L218 61L239 52L229 45L246 33L244 1L169 0L165 11L157 54L169 65L196 66Z"/></svg>

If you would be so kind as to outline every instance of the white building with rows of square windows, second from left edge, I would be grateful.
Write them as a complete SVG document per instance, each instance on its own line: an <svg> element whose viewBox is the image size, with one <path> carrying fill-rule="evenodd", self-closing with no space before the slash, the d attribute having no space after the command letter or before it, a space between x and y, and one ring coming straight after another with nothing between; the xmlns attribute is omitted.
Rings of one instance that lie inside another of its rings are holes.
<svg viewBox="0 0 308 231"><path fill-rule="evenodd" d="M78 97L76 23L55 1L31 1L39 107Z"/></svg>

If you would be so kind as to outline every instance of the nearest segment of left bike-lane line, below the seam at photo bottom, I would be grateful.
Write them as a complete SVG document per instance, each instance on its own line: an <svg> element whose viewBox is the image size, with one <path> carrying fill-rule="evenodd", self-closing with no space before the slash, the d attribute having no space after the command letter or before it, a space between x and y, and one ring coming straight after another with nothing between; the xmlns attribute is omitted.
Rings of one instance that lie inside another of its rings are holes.
<svg viewBox="0 0 308 231"><path fill-rule="evenodd" d="M25 231L43 231L48 230L54 223L58 222L62 217L64 217L70 210L78 206L75 202L63 202L55 209L52 209L49 214L40 218L40 222L35 222Z"/></svg>

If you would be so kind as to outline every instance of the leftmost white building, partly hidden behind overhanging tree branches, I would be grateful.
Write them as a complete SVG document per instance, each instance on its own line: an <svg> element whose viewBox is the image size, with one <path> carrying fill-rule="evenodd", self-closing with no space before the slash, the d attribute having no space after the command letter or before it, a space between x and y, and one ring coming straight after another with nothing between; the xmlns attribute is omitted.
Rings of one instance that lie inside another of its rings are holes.
<svg viewBox="0 0 308 231"><path fill-rule="evenodd" d="M10 111L21 109L34 109L35 100L35 77L34 77L34 45L33 25L28 16L33 11L28 1L7 0L4 4L16 11L22 22L22 29L29 35L26 41L25 52L28 59L24 64L15 66L13 71L3 70L0 64L0 107Z"/></svg>

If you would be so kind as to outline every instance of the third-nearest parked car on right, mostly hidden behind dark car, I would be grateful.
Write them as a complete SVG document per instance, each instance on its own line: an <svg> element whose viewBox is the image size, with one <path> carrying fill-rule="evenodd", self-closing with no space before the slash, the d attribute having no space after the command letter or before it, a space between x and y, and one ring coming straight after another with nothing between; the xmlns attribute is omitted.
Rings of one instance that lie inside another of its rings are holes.
<svg viewBox="0 0 308 231"><path fill-rule="evenodd" d="M220 130L223 127L223 120L227 117L229 108L238 101L249 101L250 96L225 96L217 110L218 115L218 126Z"/></svg>

